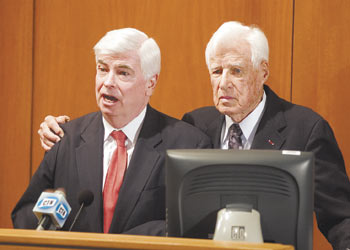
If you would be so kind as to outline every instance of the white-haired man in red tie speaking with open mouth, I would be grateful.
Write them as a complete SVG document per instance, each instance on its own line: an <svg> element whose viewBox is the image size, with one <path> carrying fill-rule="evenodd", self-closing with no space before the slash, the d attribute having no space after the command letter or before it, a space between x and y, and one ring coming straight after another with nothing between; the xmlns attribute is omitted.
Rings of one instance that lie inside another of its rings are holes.
<svg viewBox="0 0 350 250"><path fill-rule="evenodd" d="M165 151L211 147L195 127L148 105L160 73L160 50L136 29L108 32L94 47L100 109L62 126L12 212L16 228L36 228L32 209L47 189L63 188L72 207L67 230L90 190L94 201L73 231L164 235Z"/></svg>

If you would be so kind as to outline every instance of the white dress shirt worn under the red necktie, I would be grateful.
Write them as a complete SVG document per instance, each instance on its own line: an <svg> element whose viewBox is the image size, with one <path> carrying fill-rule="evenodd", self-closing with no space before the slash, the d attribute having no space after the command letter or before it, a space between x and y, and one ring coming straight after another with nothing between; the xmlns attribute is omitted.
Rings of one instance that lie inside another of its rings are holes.
<svg viewBox="0 0 350 250"><path fill-rule="evenodd" d="M128 154L128 162L127 167L129 167L130 159L132 156L132 153L134 152L134 148L137 142L137 138L140 134L140 130L143 124L143 120L145 119L146 115L146 109L147 106L141 111L141 113L135 117L131 122L129 122L126 126L124 126L121 129L115 129L112 127L111 124L107 122L107 120L102 116L102 122L103 126L105 128L105 135L104 135L104 143L103 143L103 185L104 187L106 175L109 167L109 162L112 159L112 155L114 151L117 149L117 142L114 140L114 138L111 136L111 133L113 130L121 130L126 135L126 152Z"/></svg>

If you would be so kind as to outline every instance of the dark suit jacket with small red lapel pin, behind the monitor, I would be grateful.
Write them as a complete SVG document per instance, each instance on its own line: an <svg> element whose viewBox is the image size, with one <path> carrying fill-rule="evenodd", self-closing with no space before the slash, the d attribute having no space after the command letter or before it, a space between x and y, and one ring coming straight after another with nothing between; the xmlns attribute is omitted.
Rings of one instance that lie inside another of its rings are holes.
<svg viewBox="0 0 350 250"><path fill-rule="evenodd" d="M267 86L264 89L267 101L252 149L314 152L318 227L334 249L350 248L350 183L332 129L312 110L279 98ZM220 148L224 115L215 107L187 113L183 120L205 132L214 147Z"/></svg>

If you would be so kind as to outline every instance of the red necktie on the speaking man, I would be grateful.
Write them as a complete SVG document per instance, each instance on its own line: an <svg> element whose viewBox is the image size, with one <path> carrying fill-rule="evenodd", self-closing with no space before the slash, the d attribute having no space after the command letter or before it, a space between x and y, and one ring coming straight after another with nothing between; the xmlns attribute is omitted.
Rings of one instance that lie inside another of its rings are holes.
<svg viewBox="0 0 350 250"><path fill-rule="evenodd" d="M117 141L117 149L112 155L103 189L104 233L108 233L109 231L127 164L126 135L121 130L114 130L111 136Z"/></svg>

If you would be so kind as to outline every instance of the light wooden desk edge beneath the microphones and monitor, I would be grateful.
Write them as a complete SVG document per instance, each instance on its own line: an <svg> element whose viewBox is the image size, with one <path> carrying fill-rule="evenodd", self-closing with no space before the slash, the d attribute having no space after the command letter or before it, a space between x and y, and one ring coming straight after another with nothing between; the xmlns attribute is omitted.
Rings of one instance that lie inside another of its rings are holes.
<svg viewBox="0 0 350 250"><path fill-rule="evenodd" d="M294 250L294 247L173 237L0 229L0 249Z"/></svg>

